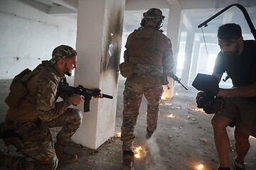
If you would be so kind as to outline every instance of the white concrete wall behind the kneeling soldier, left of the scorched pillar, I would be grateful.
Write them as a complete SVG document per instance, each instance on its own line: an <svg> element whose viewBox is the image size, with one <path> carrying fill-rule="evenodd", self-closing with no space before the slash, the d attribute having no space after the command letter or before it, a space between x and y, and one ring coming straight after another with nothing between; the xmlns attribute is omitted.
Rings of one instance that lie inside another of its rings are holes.
<svg viewBox="0 0 256 170"><path fill-rule="evenodd" d="M61 44L75 48L77 18L47 14L19 0L0 1L0 79L33 69Z"/></svg>

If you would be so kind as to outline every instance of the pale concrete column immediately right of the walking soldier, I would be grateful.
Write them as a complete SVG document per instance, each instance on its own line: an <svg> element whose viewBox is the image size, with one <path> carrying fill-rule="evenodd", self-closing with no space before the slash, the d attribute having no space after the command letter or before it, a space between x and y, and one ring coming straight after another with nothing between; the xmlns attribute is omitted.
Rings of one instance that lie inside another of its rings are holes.
<svg viewBox="0 0 256 170"><path fill-rule="evenodd" d="M175 5L170 6L169 8L169 20L168 20L168 26L167 26L167 37L171 39L171 44L173 45L174 50L174 73L176 71L176 62L178 57L178 47L180 42L180 35L181 35L181 6ZM164 86L164 94L163 96L165 98L171 98L174 96L174 79L168 78L169 80L169 87L170 89L167 89L166 86Z"/></svg>

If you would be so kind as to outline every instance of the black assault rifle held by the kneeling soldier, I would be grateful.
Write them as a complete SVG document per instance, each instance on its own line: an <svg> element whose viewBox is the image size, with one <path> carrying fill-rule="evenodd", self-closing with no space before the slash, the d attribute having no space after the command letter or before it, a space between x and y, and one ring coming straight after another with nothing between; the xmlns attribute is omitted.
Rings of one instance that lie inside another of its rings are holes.
<svg viewBox="0 0 256 170"><path fill-rule="evenodd" d="M86 89L82 85L78 85L77 87L73 86L67 86L64 84L59 84L58 86L59 91L70 91L73 94L80 94L84 96L85 104L84 104L84 112L90 111L90 100L92 99L92 96L102 95L104 98L110 98L112 99L113 96L107 95L107 94L100 94L100 91L98 89Z"/></svg>

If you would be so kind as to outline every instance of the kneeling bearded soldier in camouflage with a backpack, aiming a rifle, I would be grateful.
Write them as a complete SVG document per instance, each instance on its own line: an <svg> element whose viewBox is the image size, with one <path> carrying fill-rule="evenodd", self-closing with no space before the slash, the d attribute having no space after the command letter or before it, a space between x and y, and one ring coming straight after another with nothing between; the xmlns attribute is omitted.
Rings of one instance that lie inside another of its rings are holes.
<svg viewBox="0 0 256 170"><path fill-rule="evenodd" d="M6 145L14 145L25 157L0 154L0 166L14 170L53 170L58 161L78 159L76 154L68 154L64 148L82 123L82 113L68 107L79 104L84 96L57 91L60 83L68 84L65 74L71 76L76 62L77 52L68 45L60 45L53 50L51 60L43 61L30 73L22 72L21 79L17 78L21 74L14 78L6 98L9 110L5 122L0 124L0 133ZM26 95L17 97L22 90ZM63 101L57 102L58 96ZM21 101L16 101L19 97ZM63 127L54 146L49 130L53 127Z"/></svg>

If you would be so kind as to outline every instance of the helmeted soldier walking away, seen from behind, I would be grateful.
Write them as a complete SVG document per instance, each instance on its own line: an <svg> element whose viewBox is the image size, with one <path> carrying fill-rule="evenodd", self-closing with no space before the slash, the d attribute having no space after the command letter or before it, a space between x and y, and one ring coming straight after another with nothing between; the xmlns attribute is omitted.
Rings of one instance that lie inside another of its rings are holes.
<svg viewBox="0 0 256 170"><path fill-rule="evenodd" d="M124 63L119 66L121 74L127 77L123 92L124 111L121 128L124 169L133 169L134 152L131 148L142 96L144 95L148 102L146 139L149 139L157 126L162 85L168 84L168 81L163 81L163 77L166 80L166 75L174 75L171 40L159 30L163 21L164 16L158 8L151 8L143 13L141 27L127 38Z"/></svg>

